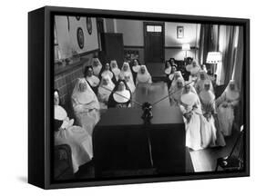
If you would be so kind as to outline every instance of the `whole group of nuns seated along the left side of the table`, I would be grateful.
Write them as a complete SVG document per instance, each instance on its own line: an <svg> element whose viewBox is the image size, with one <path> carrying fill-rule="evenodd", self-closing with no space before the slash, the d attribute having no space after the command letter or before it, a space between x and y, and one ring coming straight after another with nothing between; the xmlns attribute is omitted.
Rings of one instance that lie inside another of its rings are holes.
<svg viewBox="0 0 256 196"><path fill-rule="evenodd" d="M130 107L138 83L152 83L152 79L146 65L140 65L137 59L131 66L125 62L119 69L116 60L102 65L94 58L92 65L85 67L84 77L77 79L71 95L76 126L60 104L61 95L55 91L55 144L70 146L74 172L93 157L92 133L100 109Z"/></svg>

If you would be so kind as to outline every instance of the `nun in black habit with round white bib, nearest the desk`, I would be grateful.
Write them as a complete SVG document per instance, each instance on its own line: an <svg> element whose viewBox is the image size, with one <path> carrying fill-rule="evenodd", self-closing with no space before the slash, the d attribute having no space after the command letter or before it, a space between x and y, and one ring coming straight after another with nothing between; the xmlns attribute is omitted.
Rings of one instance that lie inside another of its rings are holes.
<svg viewBox="0 0 256 196"><path fill-rule="evenodd" d="M108 108L130 107L131 92L125 80L118 80L108 99Z"/></svg>

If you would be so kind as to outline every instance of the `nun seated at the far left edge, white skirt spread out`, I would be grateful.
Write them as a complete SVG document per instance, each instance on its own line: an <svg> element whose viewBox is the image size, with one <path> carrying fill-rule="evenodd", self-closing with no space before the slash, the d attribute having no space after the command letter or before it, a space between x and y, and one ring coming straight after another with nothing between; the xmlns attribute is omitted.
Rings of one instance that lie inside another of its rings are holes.
<svg viewBox="0 0 256 196"><path fill-rule="evenodd" d="M74 126L69 120L66 110L59 105L59 94L54 93L55 103L55 145L67 144L71 148L73 171L76 173L80 165L90 162L93 157L92 138L80 126Z"/></svg>

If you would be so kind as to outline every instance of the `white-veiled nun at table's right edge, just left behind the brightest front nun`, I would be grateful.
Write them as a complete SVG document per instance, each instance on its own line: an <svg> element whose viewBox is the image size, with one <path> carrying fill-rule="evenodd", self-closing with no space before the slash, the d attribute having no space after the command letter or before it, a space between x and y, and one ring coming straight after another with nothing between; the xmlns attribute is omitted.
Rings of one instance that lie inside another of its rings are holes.
<svg viewBox="0 0 256 196"><path fill-rule="evenodd" d="M184 80L179 77L174 83L173 88L169 92L170 106L179 106L183 87L184 87Z"/></svg>

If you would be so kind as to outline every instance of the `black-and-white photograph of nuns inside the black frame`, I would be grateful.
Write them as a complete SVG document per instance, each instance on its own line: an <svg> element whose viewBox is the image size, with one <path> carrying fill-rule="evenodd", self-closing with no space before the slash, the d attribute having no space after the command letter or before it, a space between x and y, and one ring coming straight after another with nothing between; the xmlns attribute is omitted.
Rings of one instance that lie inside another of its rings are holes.
<svg viewBox="0 0 256 196"><path fill-rule="evenodd" d="M53 181L245 170L244 25L55 15L52 34Z"/></svg>

